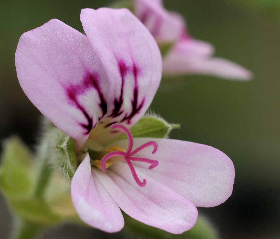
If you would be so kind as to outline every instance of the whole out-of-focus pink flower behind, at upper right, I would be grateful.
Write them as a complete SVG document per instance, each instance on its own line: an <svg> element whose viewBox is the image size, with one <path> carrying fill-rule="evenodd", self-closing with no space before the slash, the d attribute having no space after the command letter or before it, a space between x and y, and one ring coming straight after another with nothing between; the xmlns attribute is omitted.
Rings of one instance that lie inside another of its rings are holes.
<svg viewBox="0 0 280 239"><path fill-rule="evenodd" d="M168 12L161 0L134 0L135 15L146 25L159 46L174 44L163 58L163 74L203 74L249 80L252 73L224 58L212 57L211 44L193 39L181 15Z"/></svg>

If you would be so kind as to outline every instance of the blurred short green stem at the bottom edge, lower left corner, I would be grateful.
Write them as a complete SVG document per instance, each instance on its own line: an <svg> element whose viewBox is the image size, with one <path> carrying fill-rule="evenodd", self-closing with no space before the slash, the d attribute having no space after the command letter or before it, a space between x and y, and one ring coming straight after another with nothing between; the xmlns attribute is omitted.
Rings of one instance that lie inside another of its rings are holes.
<svg viewBox="0 0 280 239"><path fill-rule="evenodd" d="M34 239L40 230L41 227L39 225L19 219L16 222L12 239Z"/></svg>

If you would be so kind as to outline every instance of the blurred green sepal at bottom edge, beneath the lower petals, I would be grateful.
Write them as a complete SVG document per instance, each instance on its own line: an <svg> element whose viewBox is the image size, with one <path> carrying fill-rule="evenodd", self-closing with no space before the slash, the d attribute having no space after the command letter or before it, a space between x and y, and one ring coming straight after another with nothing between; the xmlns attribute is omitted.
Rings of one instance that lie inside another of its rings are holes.
<svg viewBox="0 0 280 239"><path fill-rule="evenodd" d="M122 213L125 219L125 227L123 232L128 238L139 239L218 239L218 234L210 225L209 221L204 217L198 216L196 224L182 234L172 234L158 228L148 226L136 221L127 214Z"/></svg>

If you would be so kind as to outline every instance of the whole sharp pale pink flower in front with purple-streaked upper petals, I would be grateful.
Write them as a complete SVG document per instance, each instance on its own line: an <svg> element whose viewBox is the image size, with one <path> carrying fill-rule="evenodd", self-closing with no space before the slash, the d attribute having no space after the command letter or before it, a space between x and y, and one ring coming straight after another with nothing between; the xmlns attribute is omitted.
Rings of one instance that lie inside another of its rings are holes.
<svg viewBox="0 0 280 239"><path fill-rule="evenodd" d="M122 209L182 233L195 224L196 206L216 206L231 195L232 161L198 143L133 140L129 128L161 79L157 43L127 9L83 9L80 19L87 36L53 19L24 33L15 55L28 98L77 142L73 205L81 220L106 232L122 229ZM123 133L128 139L116 141Z"/></svg>

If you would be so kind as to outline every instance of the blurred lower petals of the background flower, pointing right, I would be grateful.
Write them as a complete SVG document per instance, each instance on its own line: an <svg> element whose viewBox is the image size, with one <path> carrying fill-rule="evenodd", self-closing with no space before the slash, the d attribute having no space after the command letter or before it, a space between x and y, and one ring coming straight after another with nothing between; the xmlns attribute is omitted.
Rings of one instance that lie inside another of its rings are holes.
<svg viewBox="0 0 280 239"><path fill-rule="evenodd" d="M204 74L249 80L252 73L224 58L211 57L213 47L195 39L181 39L164 57L163 74Z"/></svg>

